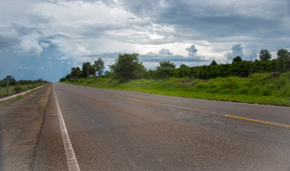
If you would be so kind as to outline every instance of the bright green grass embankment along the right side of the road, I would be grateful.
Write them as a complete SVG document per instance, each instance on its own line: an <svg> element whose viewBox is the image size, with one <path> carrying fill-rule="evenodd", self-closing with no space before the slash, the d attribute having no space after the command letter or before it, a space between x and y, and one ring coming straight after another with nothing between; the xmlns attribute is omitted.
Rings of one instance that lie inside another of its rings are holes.
<svg viewBox="0 0 290 171"><path fill-rule="evenodd" d="M72 84L186 98L290 106L290 72L254 73L249 78L214 78L206 81L168 78L119 83L110 78L86 78Z"/></svg>

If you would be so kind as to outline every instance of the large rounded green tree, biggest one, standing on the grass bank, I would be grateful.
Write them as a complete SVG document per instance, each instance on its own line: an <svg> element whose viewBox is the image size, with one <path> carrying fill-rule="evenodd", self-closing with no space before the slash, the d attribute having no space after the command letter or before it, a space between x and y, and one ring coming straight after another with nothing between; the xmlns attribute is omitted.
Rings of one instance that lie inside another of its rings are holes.
<svg viewBox="0 0 290 171"><path fill-rule="evenodd" d="M139 61L138 56L138 53L119 54L115 63L109 66L111 72L114 73L114 77L121 82L141 78L146 73L146 69L143 63Z"/></svg>

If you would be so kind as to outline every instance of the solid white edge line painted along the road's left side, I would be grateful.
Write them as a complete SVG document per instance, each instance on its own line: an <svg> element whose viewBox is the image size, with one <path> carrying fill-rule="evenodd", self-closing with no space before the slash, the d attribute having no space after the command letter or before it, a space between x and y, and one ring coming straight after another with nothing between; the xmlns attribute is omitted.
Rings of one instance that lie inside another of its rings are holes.
<svg viewBox="0 0 290 171"><path fill-rule="evenodd" d="M66 124L64 123L64 118L61 114L61 108L59 108L59 101L56 97L56 92L54 91L54 97L56 100L56 110L59 115L59 125L61 126L61 135L64 142L64 150L66 150L66 160L67 165L69 165L69 171L80 171L79 164L76 160L76 155L74 155L74 149L71 145L71 140L69 140L69 133L66 130Z"/></svg>

